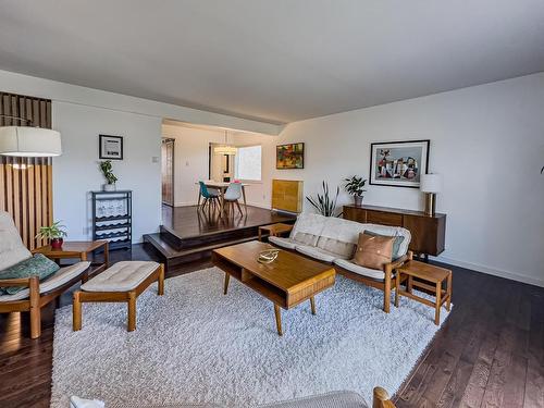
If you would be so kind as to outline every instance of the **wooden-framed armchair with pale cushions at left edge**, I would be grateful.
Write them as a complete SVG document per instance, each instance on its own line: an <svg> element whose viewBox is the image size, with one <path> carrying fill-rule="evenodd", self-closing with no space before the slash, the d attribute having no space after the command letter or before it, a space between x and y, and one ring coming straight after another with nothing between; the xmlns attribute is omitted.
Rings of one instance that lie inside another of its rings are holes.
<svg viewBox="0 0 544 408"><path fill-rule="evenodd" d="M39 282L38 276L1 279L2 270L30 257L32 254L23 245L11 215L0 211L0 287L23 287L14 295L0 295L0 313L29 312L30 337L38 338L41 335L41 308L77 282L87 281L90 262L61 268L44 282Z"/></svg>

